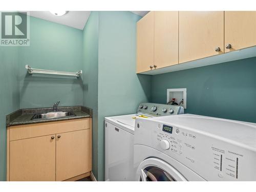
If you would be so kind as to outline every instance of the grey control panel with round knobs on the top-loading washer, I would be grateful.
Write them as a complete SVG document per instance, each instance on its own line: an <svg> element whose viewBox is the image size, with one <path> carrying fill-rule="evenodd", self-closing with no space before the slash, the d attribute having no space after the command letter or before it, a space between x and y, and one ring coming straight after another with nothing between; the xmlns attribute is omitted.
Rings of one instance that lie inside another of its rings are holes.
<svg viewBox="0 0 256 192"><path fill-rule="evenodd" d="M137 113L157 117L183 114L184 109L182 106L177 105L141 102L138 106Z"/></svg>

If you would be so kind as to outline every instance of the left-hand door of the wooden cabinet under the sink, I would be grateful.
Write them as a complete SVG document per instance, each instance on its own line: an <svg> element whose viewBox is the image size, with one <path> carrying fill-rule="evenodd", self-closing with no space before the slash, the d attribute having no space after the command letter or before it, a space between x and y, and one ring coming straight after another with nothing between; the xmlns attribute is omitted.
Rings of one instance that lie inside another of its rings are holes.
<svg viewBox="0 0 256 192"><path fill-rule="evenodd" d="M55 135L10 142L10 181L55 181Z"/></svg>

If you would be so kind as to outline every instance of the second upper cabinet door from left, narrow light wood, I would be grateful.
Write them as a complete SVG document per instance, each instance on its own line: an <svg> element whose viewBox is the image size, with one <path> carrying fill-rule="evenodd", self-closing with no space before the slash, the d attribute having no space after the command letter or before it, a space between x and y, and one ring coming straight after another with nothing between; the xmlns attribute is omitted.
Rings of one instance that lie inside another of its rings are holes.
<svg viewBox="0 0 256 192"><path fill-rule="evenodd" d="M178 64L179 12L156 11L154 28L154 68Z"/></svg>

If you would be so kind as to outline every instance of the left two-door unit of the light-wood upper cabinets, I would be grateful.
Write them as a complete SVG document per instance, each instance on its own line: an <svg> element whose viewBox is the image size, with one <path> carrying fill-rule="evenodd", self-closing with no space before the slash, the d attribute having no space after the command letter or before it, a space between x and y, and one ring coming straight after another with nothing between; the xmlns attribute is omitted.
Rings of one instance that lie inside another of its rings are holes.
<svg viewBox="0 0 256 192"><path fill-rule="evenodd" d="M137 23L137 73L178 64L178 11L151 11Z"/></svg>

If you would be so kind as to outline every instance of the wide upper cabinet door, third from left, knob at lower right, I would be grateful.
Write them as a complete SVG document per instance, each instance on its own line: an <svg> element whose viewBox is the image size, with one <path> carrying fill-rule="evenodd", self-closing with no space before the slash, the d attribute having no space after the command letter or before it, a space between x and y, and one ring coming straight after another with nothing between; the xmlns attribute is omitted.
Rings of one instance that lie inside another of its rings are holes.
<svg viewBox="0 0 256 192"><path fill-rule="evenodd" d="M179 63L224 52L224 11L179 12Z"/></svg>

